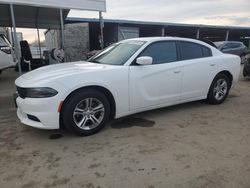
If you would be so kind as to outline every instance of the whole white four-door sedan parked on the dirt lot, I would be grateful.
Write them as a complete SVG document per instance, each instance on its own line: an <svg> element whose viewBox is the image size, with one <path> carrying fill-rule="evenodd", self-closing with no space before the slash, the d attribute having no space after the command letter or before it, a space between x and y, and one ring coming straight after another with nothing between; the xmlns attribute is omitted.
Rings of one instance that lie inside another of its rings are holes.
<svg viewBox="0 0 250 188"><path fill-rule="evenodd" d="M111 118L206 99L221 104L238 81L240 58L193 39L138 38L87 62L51 65L16 80L17 115L40 129L78 135Z"/></svg>

